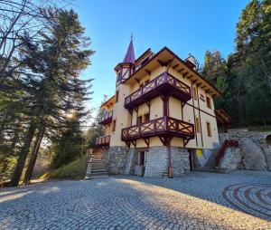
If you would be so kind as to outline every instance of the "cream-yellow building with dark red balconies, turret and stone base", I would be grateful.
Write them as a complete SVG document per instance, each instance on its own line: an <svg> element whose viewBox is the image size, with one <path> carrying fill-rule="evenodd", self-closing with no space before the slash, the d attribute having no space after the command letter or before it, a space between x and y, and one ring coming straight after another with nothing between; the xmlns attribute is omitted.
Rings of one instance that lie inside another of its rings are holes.
<svg viewBox="0 0 271 230"><path fill-rule="evenodd" d="M102 105L107 112L99 120L106 136L97 145L109 173L179 177L219 143L213 99L221 94L194 62L167 47L135 59L130 42L115 68L116 94Z"/></svg>

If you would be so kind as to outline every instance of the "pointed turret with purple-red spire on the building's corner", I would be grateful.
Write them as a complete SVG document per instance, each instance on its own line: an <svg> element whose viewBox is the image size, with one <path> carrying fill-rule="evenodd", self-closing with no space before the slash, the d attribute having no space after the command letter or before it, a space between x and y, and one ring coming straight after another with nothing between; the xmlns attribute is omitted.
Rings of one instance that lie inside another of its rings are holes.
<svg viewBox="0 0 271 230"><path fill-rule="evenodd" d="M126 56L123 62L120 62L115 67L115 72L117 73L117 85L126 81L135 70L135 52L133 44L133 36L131 36L131 41L129 43Z"/></svg>

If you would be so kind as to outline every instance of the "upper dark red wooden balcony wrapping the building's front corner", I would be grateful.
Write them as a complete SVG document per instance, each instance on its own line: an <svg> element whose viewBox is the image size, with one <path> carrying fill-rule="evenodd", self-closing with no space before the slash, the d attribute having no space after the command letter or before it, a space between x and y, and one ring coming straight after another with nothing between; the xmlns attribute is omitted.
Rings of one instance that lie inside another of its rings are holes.
<svg viewBox="0 0 271 230"><path fill-rule="evenodd" d="M170 73L164 72L144 87L127 96L125 108L128 110L134 109L145 101L150 101L163 94L169 94L181 101L188 101L192 98L191 88L188 85L176 79Z"/></svg>

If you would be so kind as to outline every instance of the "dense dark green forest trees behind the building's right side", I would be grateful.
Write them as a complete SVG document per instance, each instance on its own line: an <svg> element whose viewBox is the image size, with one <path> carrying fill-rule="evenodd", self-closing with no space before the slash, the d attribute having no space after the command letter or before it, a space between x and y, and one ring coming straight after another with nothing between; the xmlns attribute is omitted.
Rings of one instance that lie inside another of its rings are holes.
<svg viewBox="0 0 271 230"><path fill-rule="evenodd" d="M237 24L236 53L227 62L207 52L202 74L222 93L216 107L235 125L271 124L271 1L251 1Z"/></svg>

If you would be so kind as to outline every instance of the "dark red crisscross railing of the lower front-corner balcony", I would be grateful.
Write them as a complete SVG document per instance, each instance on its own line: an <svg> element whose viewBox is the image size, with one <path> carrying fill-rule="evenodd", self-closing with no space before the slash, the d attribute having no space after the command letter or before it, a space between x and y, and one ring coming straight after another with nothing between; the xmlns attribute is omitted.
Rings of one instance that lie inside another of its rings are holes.
<svg viewBox="0 0 271 230"><path fill-rule="evenodd" d="M194 126L183 120L162 117L122 129L121 139L129 141L155 136L174 136L192 139L194 137Z"/></svg>

